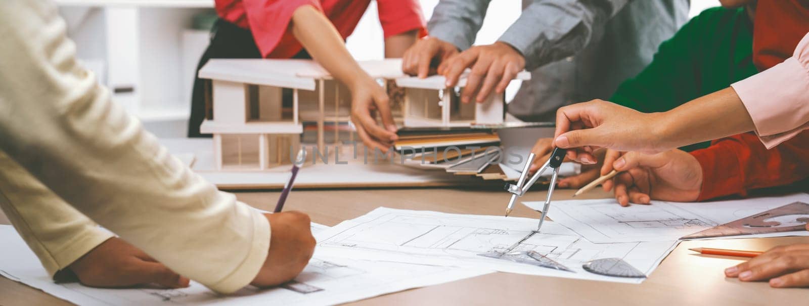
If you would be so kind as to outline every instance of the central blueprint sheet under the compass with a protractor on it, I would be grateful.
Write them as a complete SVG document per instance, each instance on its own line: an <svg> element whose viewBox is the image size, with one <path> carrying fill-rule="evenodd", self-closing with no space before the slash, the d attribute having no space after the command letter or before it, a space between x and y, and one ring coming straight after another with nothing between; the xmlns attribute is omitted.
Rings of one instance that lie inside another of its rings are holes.
<svg viewBox="0 0 809 306"><path fill-rule="evenodd" d="M618 257L649 275L676 246L676 241L593 244L557 223L489 215L454 215L434 211L377 208L316 235L316 256L459 266L503 272L641 283L643 278L616 278L582 269L586 261ZM575 271L567 272L478 256L492 251L534 250Z"/></svg>

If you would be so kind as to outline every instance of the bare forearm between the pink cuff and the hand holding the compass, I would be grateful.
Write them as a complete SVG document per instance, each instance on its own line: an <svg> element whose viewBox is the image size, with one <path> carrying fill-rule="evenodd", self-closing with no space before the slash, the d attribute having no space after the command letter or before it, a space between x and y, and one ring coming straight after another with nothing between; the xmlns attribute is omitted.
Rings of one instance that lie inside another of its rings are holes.
<svg viewBox="0 0 809 306"><path fill-rule="evenodd" d="M741 134L755 129L747 108L728 87L659 116L659 136L667 148Z"/></svg>

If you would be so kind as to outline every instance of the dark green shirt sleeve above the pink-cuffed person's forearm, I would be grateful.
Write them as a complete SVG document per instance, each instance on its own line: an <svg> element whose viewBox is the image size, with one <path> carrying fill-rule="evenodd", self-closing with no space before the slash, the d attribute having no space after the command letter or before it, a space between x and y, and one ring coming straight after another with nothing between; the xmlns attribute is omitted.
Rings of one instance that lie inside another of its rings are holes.
<svg viewBox="0 0 809 306"><path fill-rule="evenodd" d="M752 29L743 8L702 11L660 45L640 74L621 83L610 101L643 113L665 112L747 79L758 73L752 63Z"/></svg>

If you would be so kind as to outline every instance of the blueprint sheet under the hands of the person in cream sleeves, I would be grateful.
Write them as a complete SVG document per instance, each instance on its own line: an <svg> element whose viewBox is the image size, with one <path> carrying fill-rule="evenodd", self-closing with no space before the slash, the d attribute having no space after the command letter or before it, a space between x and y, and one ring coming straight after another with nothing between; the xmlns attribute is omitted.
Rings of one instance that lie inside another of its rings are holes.
<svg viewBox="0 0 809 306"><path fill-rule="evenodd" d="M295 278L298 283L290 286L315 290L311 293L283 287L265 290L247 287L226 296L218 295L195 282L182 289L100 289L84 287L79 283L53 283L14 227L0 225L0 244L0 275L79 305L341 304L489 273L477 269L315 257Z"/></svg>

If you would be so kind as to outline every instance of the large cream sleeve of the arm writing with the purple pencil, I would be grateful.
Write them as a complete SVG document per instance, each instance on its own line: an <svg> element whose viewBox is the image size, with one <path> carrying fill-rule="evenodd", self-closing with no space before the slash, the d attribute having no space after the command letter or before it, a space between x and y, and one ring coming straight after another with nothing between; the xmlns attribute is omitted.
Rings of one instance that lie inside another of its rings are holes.
<svg viewBox="0 0 809 306"><path fill-rule="evenodd" d="M65 32L51 2L0 2L0 150L177 273L221 292L247 285L269 249L267 219L112 103Z"/></svg>

